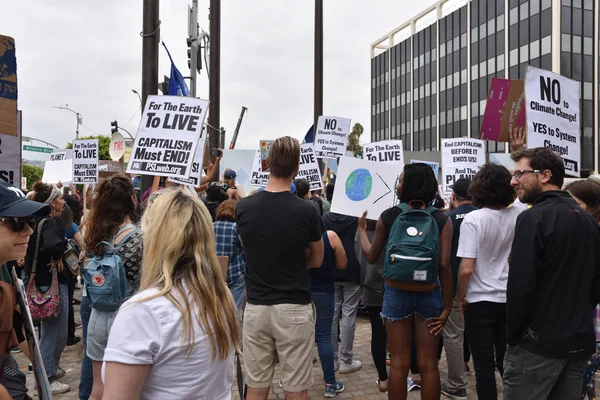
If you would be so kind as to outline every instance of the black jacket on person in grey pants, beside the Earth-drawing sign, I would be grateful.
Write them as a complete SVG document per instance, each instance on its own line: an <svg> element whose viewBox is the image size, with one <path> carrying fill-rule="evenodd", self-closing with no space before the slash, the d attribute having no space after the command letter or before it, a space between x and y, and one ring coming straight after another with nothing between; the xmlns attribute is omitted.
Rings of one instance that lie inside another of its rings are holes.
<svg viewBox="0 0 600 400"><path fill-rule="evenodd" d="M358 229L358 218L337 213L323 214L323 225L328 231L334 231L340 237L342 246L348 257L348 266L344 270L335 269L333 274L338 282L354 282L360 284L360 265L354 254L354 236Z"/></svg>

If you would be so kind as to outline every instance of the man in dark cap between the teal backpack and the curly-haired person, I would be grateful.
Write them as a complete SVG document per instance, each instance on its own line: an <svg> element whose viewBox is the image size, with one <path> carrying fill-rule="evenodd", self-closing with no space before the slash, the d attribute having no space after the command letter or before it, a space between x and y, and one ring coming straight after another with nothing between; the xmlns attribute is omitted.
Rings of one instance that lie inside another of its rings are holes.
<svg viewBox="0 0 600 400"><path fill-rule="evenodd" d="M458 268L461 258L456 255L460 239L460 226L466 215L477 210L473 205L469 187L471 180L461 178L452 186L450 200L451 211L448 216L452 220L452 248L450 250L450 268L452 270L453 298L452 311L443 331L446 361L448 362L448 383L442 384L442 393L453 400L467 398L467 375L464 367L464 332L465 321L456 304L456 291L458 286Z"/></svg>

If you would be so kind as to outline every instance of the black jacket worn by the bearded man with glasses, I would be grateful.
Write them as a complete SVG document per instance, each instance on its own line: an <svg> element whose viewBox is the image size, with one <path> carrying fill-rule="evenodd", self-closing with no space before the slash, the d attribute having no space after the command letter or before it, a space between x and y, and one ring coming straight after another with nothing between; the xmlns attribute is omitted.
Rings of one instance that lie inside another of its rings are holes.
<svg viewBox="0 0 600 400"><path fill-rule="evenodd" d="M595 350L600 227L567 192L549 191L517 219L510 257L506 340L550 358Z"/></svg>

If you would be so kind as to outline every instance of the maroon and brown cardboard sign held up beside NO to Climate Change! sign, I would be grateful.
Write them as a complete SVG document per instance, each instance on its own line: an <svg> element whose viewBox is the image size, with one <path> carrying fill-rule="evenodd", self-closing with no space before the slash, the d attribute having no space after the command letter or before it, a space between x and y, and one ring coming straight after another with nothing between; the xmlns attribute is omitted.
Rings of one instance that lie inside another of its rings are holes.
<svg viewBox="0 0 600 400"><path fill-rule="evenodd" d="M479 139L508 142L509 132L525 127L524 86L522 80L492 79Z"/></svg>

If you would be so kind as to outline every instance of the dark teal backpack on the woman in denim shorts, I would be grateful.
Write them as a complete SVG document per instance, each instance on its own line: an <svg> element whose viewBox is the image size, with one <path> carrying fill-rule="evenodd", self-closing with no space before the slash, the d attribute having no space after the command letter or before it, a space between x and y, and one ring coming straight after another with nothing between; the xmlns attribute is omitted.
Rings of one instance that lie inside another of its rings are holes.
<svg viewBox="0 0 600 400"><path fill-rule="evenodd" d="M431 206L416 209L406 203L396 207L402 214L390 230L383 276L392 282L437 283L440 230L432 214L439 210Z"/></svg>

